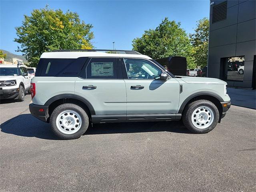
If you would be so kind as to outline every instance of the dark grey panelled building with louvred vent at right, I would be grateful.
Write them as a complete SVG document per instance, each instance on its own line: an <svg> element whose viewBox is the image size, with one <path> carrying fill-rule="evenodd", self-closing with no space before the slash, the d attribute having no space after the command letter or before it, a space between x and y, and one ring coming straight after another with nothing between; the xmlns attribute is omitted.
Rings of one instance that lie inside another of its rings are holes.
<svg viewBox="0 0 256 192"><path fill-rule="evenodd" d="M256 0L210 0L208 77L255 89Z"/></svg>

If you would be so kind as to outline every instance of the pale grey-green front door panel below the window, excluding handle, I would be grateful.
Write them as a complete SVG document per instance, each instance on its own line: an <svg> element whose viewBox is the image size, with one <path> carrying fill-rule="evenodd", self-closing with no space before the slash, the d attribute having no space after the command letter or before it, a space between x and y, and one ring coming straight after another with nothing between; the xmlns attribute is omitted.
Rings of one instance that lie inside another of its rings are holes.
<svg viewBox="0 0 256 192"><path fill-rule="evenodd" d="M127 114L175 114L180 84L175 78L162 80L126 79ZM144 86L134 89L132 86Z"/></svg>

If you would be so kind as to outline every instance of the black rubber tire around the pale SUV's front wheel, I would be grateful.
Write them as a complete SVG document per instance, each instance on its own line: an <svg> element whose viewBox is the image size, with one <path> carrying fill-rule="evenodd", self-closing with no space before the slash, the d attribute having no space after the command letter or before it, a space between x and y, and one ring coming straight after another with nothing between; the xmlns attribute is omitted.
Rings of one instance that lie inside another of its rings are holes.
<svg viewBox="0 0 256 192"><path fill-rule="evenodd" d="M205 128L196 128L196 126L194 126L194 124L192 123L192 114L194 112L194 110L196 110L196 108L200 107L200 106L207 106L210 109L212 109L212 111L214 112L214 120L212 122L212 124ZM188 130L190 130L192 133L196 133L196 134L201 134L201 133L208 133L211 130L213 130L219 120L220 117L220 113L218 108L216 107L216 105L208 100L196 100L194 102L191 102L190 104L188 104L184 111L182 112L182 121L184 123L184 125L186 126L186 128L188 128Z"/></svg>

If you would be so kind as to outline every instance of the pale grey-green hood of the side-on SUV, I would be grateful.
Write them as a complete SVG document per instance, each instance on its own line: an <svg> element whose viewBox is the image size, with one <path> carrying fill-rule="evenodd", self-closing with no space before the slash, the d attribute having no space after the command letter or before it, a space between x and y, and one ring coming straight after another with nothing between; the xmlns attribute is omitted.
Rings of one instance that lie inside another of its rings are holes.
<svg viewBox="0 0 256 192"><path fill-rule="evenodd" d="M191 84L227 84L225 81L208 77L178 76L181 80Z"/></svg>

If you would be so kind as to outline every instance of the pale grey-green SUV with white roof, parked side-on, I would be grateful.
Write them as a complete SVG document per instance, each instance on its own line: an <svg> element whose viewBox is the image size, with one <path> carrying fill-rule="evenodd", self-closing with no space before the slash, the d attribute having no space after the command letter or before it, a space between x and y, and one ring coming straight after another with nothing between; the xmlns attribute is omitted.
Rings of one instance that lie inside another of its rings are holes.
<svg viewBox="0 0 256 192"><path fill-rule="evenodd" d="M215 128L230 108L226 82L174 76L152 58L126 50L58 50L40 57L30 112L62 139L89 124L178 121L193 133Z"/></svg>

